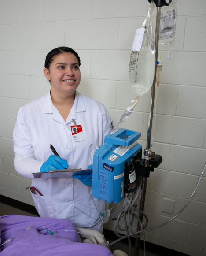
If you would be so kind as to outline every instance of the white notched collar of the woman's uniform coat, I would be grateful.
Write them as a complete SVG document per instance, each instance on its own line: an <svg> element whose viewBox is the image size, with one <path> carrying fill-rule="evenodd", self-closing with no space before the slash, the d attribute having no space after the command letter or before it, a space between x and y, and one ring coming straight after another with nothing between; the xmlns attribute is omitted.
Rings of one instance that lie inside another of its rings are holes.
<svg viewBox="0 0 206 256"><path fill-rule="evenodd" d="M52 118L55 119L57 122L62 123L64 126L66 126L66 124L72 122L72 119L74 119L74 120L77 119L77 115L76 115L77 112L84 112L84 111L86 111L86 109L85 109L85 104L82 99L81 93L79 93L76 90L74 104L73 104L70 114L68 115L66 122L65 122L63 117L60 115L59 111L54 106L54 104L51 100L50 91L46 95L45 103L44 103L44 113L47 113L47 114L53 113Z"/></svg>

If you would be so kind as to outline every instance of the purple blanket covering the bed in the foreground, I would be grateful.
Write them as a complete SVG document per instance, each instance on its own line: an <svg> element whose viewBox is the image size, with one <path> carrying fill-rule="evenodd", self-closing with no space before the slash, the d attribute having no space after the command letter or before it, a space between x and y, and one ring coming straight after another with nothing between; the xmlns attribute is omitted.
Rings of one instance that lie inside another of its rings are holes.
<svg viewBox="0 0 206 256"><path fill-rule="evenodd" d="M28 229L30 225L30 229ZM51 235L49 231L57 231ZM9 238L14 240L0 246L0 256L112 256L101 245L81 243L74 224L66 219L38 218L22 215L6 215L0 218L1 244ZM58 233L62 230L74 230ZM25 231L25 232L23 232Z"/></svg>

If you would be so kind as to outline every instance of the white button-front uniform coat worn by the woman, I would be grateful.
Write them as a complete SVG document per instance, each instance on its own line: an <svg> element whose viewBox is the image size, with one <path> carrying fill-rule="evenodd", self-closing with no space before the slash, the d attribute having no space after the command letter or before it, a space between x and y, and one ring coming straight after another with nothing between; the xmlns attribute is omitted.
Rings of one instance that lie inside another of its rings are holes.
<svg viewBox="0 0 206 256"><path fill-rule="evenodd" d="M74 123L82 126L85 141L74 142L71 128ZM91 160L89 146L103 145L104 137L111 130L111 119L105 106L76 91L74 105L66 122L51 101L50 92L20 108L14 129L14 151L22 155L35 155L41 164L53 153L53 145L59 156L68 161L69 168L86 169ZM90 148L93 160L95 146ZM26 159L26 158L25 158ZM33 160L35 161L35 160ZM92 186L85 186L78 179L34 179L32 168L16 170L32 178L32 186L42 194L32 194L40 217L69 219L77 227L92 227L99 222L99 213L92 200ZM39 169L36 170L39 172ZM98 200L93 198L98 207ZM99 200L100 211L108 205Z"/></svg>

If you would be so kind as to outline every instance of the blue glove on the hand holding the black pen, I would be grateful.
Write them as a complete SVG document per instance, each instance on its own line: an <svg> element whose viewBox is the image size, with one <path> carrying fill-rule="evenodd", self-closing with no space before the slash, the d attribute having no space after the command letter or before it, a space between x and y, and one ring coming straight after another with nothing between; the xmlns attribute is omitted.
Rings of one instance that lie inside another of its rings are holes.
<svg viewBox="0 0 206 256"><path fill-rule="evenodd" d="M67 160L59 156L51 155L40 168L40 172L48 172L48 170L62 170L68 168Z"/></svg>

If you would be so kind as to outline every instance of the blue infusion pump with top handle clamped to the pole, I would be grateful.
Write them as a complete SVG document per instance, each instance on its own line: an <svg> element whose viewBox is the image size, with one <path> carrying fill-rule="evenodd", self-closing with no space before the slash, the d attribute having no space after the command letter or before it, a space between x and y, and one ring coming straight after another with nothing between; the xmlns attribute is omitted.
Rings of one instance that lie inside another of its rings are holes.
<svg viewBox="0 0 206 256"><path fill-rule="evenodd" d="M141 184L137 166L142 146L136 143L140 132L119 128L104 138L93 159L92 195L108 203L118 203L125 193L135 192Z"/></svg>

